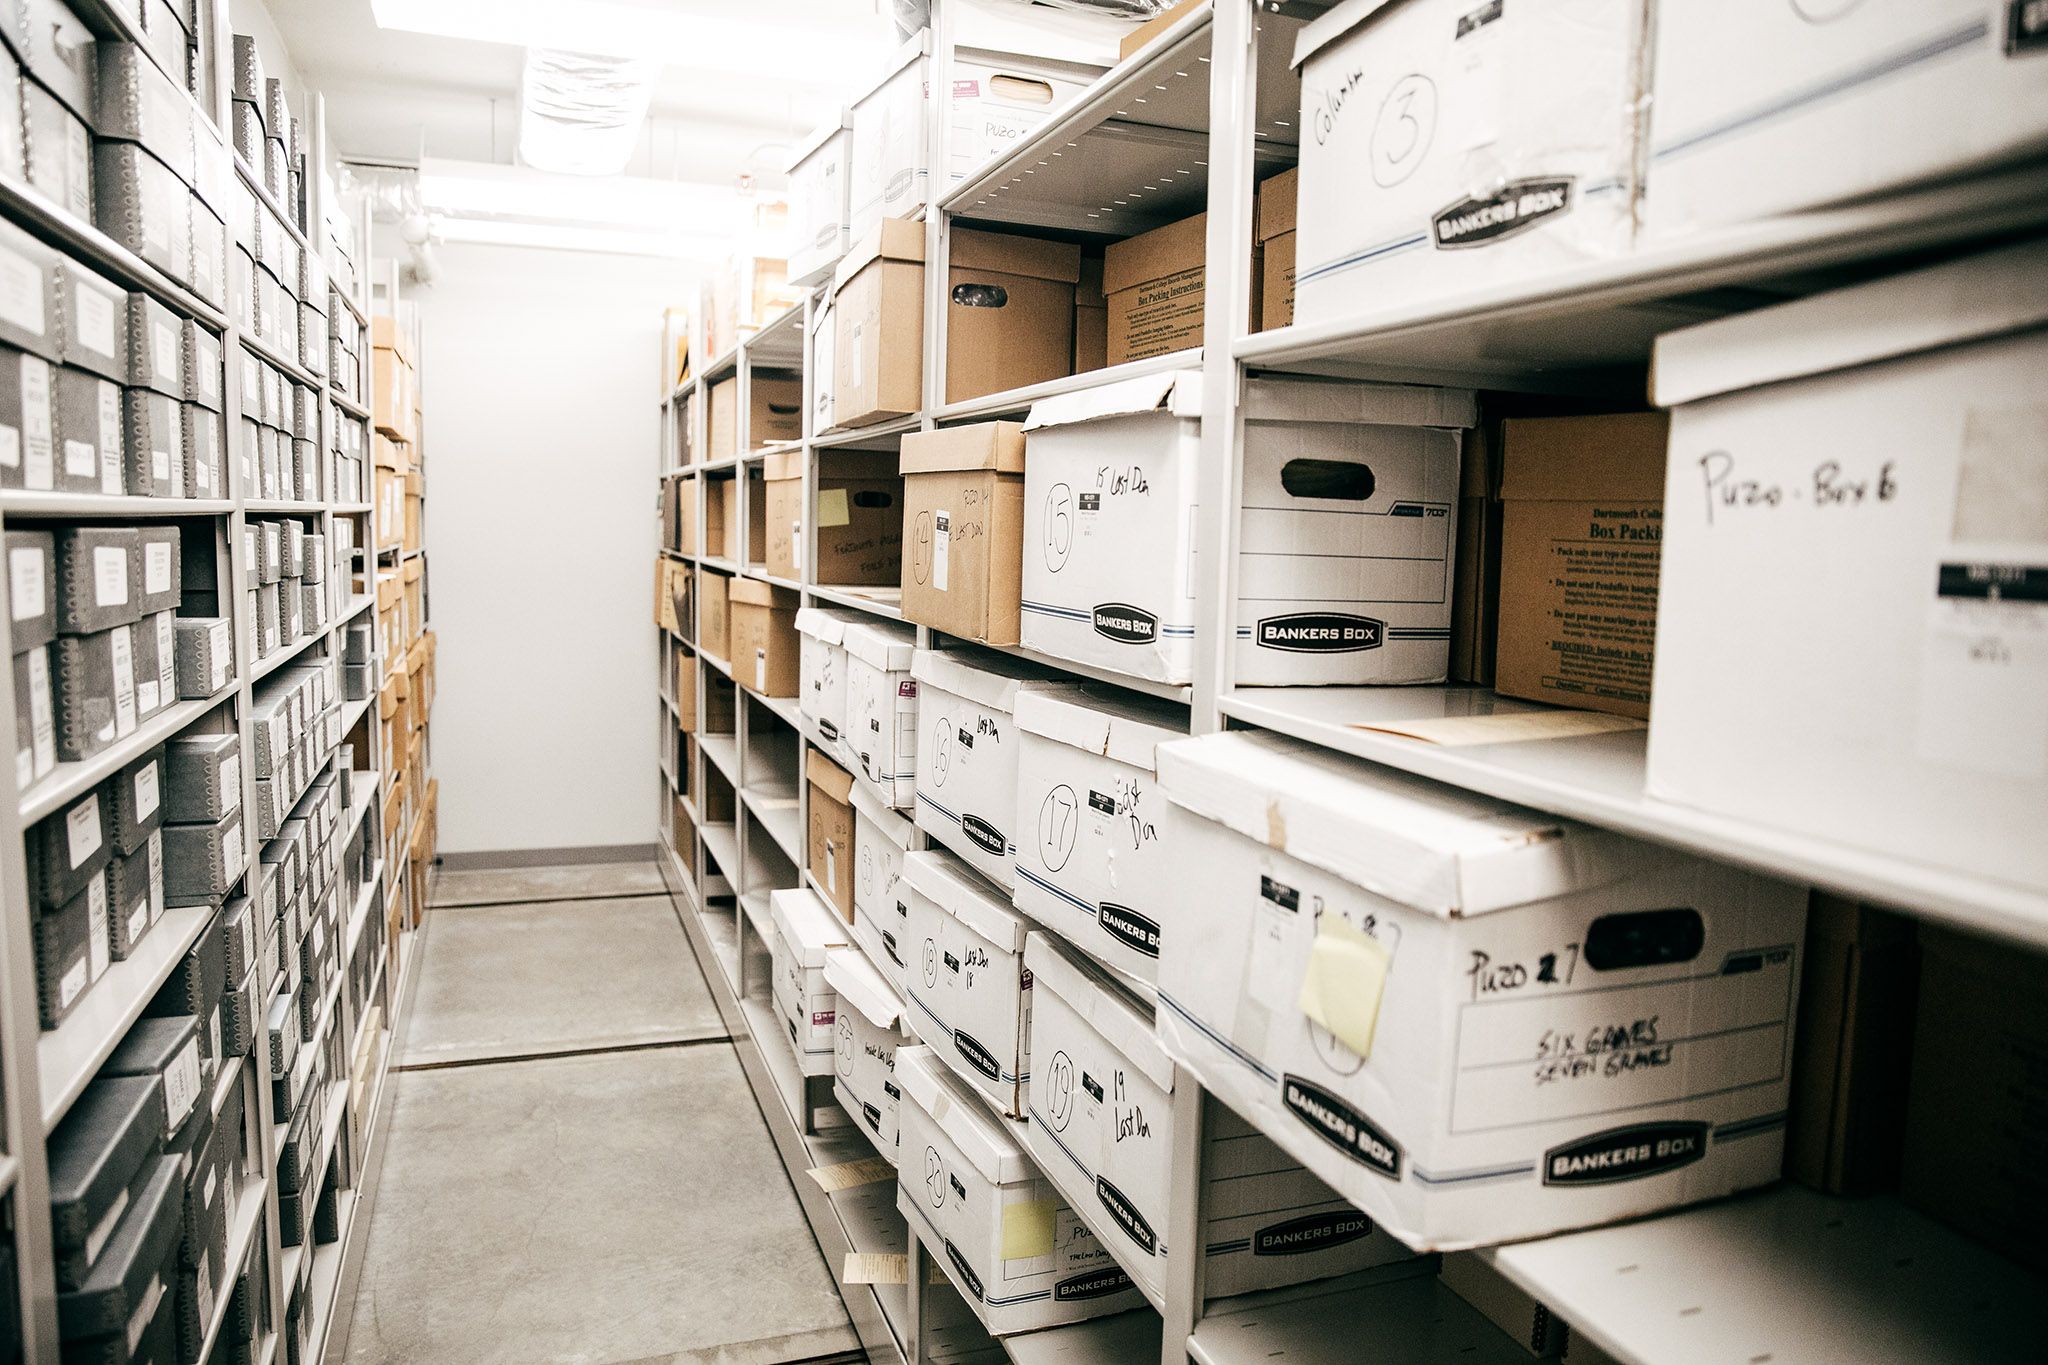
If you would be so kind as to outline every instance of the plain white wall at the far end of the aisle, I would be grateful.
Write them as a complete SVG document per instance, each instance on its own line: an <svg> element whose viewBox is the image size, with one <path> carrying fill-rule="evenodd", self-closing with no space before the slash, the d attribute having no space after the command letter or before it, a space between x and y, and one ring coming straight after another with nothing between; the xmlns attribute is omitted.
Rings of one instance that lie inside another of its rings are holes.
<svg viewBox="0 0 2048 1365"><path fill-rule="evenodd" d="M662 309L676 264L442 246L422 309L446 853L651 843Z"/></svg>

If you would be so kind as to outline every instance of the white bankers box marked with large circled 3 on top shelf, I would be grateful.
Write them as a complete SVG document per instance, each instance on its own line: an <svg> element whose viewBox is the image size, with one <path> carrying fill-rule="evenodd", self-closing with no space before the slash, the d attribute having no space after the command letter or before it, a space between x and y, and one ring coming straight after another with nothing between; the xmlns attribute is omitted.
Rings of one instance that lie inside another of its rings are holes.
<svg viewBox="0 0 2048 1365"><path fill-rule="evenodd" d="M1305 27L1296 321L1626 254L1645 12L1346 0Z"/></svg>

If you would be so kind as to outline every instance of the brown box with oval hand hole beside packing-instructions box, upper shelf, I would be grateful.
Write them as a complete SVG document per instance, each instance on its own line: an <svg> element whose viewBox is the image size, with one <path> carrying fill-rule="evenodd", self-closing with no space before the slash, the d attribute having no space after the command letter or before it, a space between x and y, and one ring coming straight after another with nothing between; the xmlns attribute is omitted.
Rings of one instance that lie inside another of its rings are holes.
<svg viewBox="0 0 2048 1365"><path fill-rule="evenodd" d="M946 248L946 401L1073 375L1081 248L954 227Z"/></svg>

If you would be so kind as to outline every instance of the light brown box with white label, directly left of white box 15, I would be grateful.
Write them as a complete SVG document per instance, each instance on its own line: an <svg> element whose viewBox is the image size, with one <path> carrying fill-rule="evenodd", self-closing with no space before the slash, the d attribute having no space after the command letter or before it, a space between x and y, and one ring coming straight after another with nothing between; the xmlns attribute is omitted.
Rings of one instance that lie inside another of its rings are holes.
<svg viewBox="0 0 2048 1365"><path fill-rule="evenodd" d="M1024 428L977 422L903 436L903 620L1018 643Z"/></svg>

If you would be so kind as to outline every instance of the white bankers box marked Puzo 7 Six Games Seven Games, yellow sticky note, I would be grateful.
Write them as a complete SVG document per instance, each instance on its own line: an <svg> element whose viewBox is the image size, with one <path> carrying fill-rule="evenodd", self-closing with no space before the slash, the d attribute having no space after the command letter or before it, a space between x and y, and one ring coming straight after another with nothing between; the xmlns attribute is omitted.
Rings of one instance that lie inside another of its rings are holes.
<svg viewBox="0 0 2048 1365"><path fill-rule="evenodd" d="M1272 735L1157 755L1159 1040L1397 1238L1778 1179L1804 890Z"/></svg>

